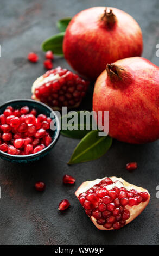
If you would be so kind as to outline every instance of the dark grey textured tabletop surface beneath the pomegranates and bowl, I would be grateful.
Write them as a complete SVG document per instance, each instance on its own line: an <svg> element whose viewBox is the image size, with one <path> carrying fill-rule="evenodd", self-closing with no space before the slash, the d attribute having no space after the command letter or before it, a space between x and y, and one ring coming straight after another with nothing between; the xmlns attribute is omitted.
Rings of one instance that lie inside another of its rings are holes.
<svg viewBox="0 0 159 256"><path fill-rule="evenodd" d="M41 42L57 33L56 20L73 16L82 9L108 5L132 15L143 31L143 57L159 65L156 44L159 43L159 2L148 1L33 1L1 0L0 8L0 103L16 98L30 98L31 84L43 74L44 54ZM39 53L38 64L27 62L29 51ZM54 66L69 68L63 58L55 58ZM82 102L81 109L91 109L92 92ZM88 104L88 102L90 102ZM0 244L1 245L157 245L159 143L130 145L113 141L109 152L100 159L67 166L78 141L60 136L58 144L39 162L15 164L0 160ZM125 164L137 161L138 169L129 173ZM75 176L73 186L62 185L64 174ZM122 176L127 181L147 188L151 200L144 212L118 231L99 231L88 219L75 190L85 180L104 176ZM36 181L46 182L43 193L34 190ZM60 200L67 198L71 207L58 211Z"/></svg>

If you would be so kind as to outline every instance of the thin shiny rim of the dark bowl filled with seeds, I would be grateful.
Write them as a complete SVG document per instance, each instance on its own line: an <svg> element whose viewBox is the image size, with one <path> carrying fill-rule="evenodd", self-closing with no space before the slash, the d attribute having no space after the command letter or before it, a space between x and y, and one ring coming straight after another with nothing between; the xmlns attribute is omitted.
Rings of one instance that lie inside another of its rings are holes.
<svg viewBox="0 0 159 256"><path fill-rule="evenodd" d="M55 113L55 111L53 111L52 108L50 108L49 106L47 106L46 104L40 102L40 101L36 101L36 100L32 100L32 99L14 99L14 100L9 100L9 101L6 101L5 103L3 103L2 105L0 105L0 109L2 107L4 107L5 105L9 105L13 102L20 102L20 101L28 101L28 102L33 102L33 103L37 103L37 105L42 105L43 107L49 109L50 113L53 113L54 114L54 117L56 119L56 135L52 141L52 143L50 143L46 148L42 149L41 151L37 152L37 153L34 153L34 154L30 154L30 155L11 155L11 154L8 154L8 153L5 153L3 151L0 150L0 155L2 156L5 156L6 158L9 158L9 159L12 159L12 158L17 158L17 159L28 159L28 158L34 158L36 156L40 156L42 153L44 153L45 151L47 151L49 148L52 148L53 145L58 141L58 138L60 136L60 121L59 121L59 118L58 118L58 115Z"/></svg>

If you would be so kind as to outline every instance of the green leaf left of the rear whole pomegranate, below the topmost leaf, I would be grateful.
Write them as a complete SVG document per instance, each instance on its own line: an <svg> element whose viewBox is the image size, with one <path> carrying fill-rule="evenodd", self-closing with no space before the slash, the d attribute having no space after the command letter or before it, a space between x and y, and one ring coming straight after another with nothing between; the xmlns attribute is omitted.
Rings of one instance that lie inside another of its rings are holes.
<svg viewBox="0 0 159 256"><path fill-rule="evenodd" d="M42 43L42 50L52 51L55 55L63 56L62 44L65 32L53 35L51 38L48 38Z"/></svg>

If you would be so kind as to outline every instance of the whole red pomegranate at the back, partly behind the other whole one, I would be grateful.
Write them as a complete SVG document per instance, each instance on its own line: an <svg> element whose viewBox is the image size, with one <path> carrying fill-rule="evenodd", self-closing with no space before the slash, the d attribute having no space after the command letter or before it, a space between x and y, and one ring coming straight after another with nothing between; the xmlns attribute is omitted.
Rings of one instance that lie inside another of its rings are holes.
<svg viewBox="0 0 159 256"><path fill-rule="evenodd" d="M116 8L93 7L81 11L69 23L63 53L72 68L94 80L106 63L140 56L143 48L138 23Z"/></svg>

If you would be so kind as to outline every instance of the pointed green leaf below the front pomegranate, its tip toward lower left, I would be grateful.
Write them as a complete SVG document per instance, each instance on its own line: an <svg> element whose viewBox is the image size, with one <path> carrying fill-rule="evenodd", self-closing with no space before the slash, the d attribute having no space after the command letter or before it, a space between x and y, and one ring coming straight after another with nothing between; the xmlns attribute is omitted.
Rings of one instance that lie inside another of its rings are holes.
<svg viewBox="0 0 159 256"><path fill-rule="evenodd" d="M112 138L109 136L98 136L97 131L89 132L75 148L68 164L92 161L103 156L111 147Z"/></svg>

